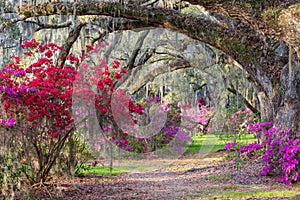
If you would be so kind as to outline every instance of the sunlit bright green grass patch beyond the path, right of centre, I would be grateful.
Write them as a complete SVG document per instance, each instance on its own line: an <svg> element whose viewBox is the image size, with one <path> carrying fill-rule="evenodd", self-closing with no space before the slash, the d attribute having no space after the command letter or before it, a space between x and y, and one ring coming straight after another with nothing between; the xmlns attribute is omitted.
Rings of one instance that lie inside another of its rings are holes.
<svg viewBox="0 0 300 200"><path fill-rule="evenodd" d="M209 153L217 152L224 149L224 145L227 142L233 141L236 135L234 134L222 134L218 137L213 134L208 135L196 135L193 137L191 144L186 149L187 153ZM249 144L253 142L255 138L251 134L246 134L237 139L239 145Z"/></svg>

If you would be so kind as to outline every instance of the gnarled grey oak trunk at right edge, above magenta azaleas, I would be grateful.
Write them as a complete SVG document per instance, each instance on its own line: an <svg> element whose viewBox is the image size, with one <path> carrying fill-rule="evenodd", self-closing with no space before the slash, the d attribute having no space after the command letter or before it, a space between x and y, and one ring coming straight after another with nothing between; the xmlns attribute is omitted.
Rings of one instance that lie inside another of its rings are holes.
<svg viewBox="0 0 300 200"><path fill-rule="evenodd" d="M262 84L269 84L268 81ZM268 93L257 94L262 121L273 120L275 126L290 129L300 136L300 62L296 53L281 71L280 80Z"/></svg>

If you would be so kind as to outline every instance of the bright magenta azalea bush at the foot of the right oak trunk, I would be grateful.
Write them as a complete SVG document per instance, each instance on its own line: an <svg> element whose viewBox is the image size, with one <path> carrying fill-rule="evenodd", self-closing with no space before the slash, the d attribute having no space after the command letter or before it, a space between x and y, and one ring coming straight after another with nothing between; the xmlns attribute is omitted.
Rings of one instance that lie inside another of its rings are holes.
<svg viewBox="0 0 300 200"><path fill-rule="evenodd" d="M265 163L260 175L280 175L278 181L291 184L300 180L300 138L289 135L289 129L272 127L273 122L262 122L249 125L254 136L264 138L261 143L256 141L236 148L242 158L257 158L262 155ZM235 147L236 143L227 143L226 152Z"/></svg>

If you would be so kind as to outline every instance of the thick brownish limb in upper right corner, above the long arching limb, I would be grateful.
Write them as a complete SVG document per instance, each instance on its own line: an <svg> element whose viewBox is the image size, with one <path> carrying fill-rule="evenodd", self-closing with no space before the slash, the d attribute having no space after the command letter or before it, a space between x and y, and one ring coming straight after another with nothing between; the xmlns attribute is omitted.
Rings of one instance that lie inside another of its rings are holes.
<svg viewBox="0 0 300 200"><path fill-rule="evenodd" d="M298 0L186 0L200 5L212 12L241 20L263 35L284 40L292 46L299 46L299 29L294 21L300 21L300 3ZM292 17L291 17L292 16ZM287 30L294 29L287 37Z"/></svg>

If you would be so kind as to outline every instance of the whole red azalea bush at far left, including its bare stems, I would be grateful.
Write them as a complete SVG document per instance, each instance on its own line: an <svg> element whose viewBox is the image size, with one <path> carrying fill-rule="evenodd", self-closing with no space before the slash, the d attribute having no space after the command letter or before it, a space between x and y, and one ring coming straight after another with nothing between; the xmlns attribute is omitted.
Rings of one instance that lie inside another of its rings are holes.
<svg viewBox="0 0 300 200"><path fill-rule="evenodd" d="M2 114L15 121L10 134L19 144L17 157L26 166L22 172L33 184L47 180L65 141L74 132L70 107L76 68L55 65L61 49L56 44L42 45L32 39L21 47L25 57L12 57L0 73L5 105ZM28 66L26 59L33 62ZM71 57L67 60L73 61Z"/></svg>

